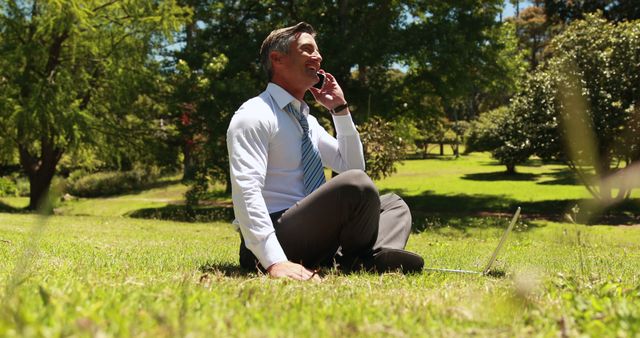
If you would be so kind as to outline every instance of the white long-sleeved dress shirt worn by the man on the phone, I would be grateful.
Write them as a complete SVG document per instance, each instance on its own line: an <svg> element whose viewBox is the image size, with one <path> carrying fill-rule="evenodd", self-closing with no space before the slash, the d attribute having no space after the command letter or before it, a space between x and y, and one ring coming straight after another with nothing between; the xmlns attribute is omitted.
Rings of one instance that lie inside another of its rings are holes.
<svg viewBox="0 0 640 338"><path fill-rule="evenodd" d="M263 267L287 260L270 213L305 197L302 179L302 128L283 108L293 102L307 116L311 142L322 164L336 172L364 170L360 135L350 115L333 116L337 139L309 115L309 106L269 83L242 104L227 130L233 210L245 245Z"/></svg>

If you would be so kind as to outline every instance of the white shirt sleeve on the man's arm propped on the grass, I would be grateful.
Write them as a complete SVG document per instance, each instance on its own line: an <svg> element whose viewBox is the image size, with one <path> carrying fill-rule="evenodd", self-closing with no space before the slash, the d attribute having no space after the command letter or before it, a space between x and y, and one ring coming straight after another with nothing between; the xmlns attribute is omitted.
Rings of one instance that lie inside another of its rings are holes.
<svg viewBox="0 0 640 338"><path fill-rule="evenodd" d="M287 260L262 196L271 126L242 110L227 130L233 209L245 245L268 268Z"/></svg>

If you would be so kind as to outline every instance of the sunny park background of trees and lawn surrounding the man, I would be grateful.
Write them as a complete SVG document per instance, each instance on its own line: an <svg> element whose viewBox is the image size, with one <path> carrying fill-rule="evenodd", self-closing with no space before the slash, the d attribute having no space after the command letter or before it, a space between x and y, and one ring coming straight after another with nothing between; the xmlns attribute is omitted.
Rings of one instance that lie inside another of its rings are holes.
<svg viewBox="0 0 640 338"><path fill-rule="evenodd" d="M639 18L634 1L0 1L0 333L636 336ZM265 87L264 37L299 21L427 266L479 269L523 208L492 276L237 267L226 128Z"/></svg>

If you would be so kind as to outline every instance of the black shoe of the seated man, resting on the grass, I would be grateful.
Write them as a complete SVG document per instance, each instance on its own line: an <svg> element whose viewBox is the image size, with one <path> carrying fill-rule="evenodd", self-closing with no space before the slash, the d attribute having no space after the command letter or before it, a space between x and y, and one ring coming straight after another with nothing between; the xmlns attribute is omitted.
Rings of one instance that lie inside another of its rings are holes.
<svg viewBox="0 0 640 338"><path fill-rule="evenodd" d="M402 273L416 273L422 271L424 259L413 252L382 248L365 260L364 266L368 270L379 273L400 271Z"/></svg>

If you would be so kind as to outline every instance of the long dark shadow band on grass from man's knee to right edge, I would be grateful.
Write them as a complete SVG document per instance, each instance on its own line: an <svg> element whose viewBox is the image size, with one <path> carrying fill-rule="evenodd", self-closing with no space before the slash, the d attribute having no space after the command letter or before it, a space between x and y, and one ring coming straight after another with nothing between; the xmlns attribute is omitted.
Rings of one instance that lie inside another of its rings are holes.
<svg viewBox="0 0 640 338"><path fill-rule="evenodd" d="M380 193L402 191L383 190ZM588 205L589 200L546 200L522 202L504 195L442 195L425 191L417 196L403 197L413 216L414 231L427 228L451 227L504 227L505 219L518 207L522 219L546 219L566 222L566 214L576 205ZM582 210L589 212L589 210ZM590 224L629 225L640 223L640 199L629 200L614 208L588 216ZM477 219L482 217L482 219ZM580 216L574 217L580 220ZM582 218L584 219L584 217ZM531 226L527 227L528 229Z"/></svg>

